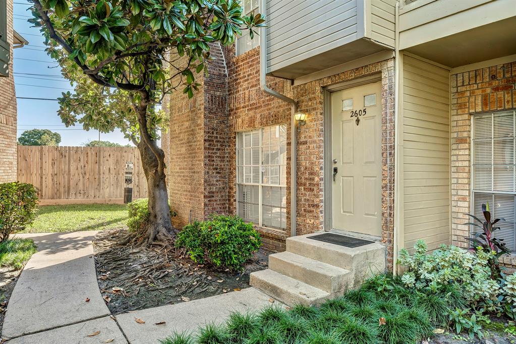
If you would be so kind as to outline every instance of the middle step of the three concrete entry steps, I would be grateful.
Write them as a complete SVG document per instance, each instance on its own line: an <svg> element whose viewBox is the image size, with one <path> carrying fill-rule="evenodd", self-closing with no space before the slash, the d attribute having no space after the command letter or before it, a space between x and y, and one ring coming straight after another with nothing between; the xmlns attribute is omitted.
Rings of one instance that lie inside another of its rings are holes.
<svg viewBox="0 0 516 344"><path fill-rule="evenodd" d="M328 293L352 287L352 273L349 270L292 252L269 255L269 269Z"/></svg>

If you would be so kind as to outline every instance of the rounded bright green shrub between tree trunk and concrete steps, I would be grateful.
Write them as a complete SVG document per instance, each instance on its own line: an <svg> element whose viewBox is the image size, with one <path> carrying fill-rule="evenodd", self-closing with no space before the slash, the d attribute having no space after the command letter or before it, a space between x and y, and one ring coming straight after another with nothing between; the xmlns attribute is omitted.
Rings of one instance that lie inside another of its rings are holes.
<svg viewBox="0 0 516 344"><path fill-rule="evenodd" d="M250 223L237 216L213 215L209 220L186 225L175 245L185 248L196 263L241 270L262 242Z"/></svg>

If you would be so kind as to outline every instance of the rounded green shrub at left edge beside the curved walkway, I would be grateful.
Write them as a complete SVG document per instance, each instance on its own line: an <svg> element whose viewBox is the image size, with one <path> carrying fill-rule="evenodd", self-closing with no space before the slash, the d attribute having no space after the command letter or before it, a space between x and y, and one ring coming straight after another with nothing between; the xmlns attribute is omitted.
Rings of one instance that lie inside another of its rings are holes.
<svg viewBox="0 0 516 344"><path fill-rule="evenodd" d="M36 218L38 189L27 183L0 184L0 242Z"/></svg>

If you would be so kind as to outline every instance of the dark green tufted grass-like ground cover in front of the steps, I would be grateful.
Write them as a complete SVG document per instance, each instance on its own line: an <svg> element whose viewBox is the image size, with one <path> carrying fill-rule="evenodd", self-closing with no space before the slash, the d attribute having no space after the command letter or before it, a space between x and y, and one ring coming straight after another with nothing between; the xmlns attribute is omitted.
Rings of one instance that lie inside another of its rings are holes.
<svg viewBox="0 0 516 344"><path fill-rule="evenodd" d="M211 343L230 344L419 343L432 335L435 325L441 325L432 323L426 310L417 306L427 292L434 293L430 288L414 292L398 277L379 275L320 307L269 306L257 313L234 313L216 329L206 325L197 333L174 333L160 342L207 342L209 334ZM446 294L440 297L451 304ZM448 309L438 308L436 312L443 312L438 318L447 320Z"/></svg>

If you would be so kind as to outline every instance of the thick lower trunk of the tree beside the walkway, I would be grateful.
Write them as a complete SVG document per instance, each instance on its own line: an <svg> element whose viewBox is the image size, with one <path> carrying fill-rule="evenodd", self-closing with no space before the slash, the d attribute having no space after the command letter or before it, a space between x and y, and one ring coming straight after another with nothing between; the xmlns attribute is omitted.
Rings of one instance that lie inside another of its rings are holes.
<svg viewBox="0 0 516 344"><path fill-rule="evenodd" d="M170 218L165 170L158 168L164 166L164 154L156 157L156 154L143 140L138 143L138 150L149 188L149 212L151 215L146 233L147 245L165 244L172 239L174 232ZM163 151L161 152L163 153Z"/></svg>

